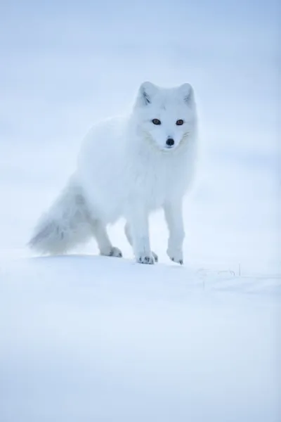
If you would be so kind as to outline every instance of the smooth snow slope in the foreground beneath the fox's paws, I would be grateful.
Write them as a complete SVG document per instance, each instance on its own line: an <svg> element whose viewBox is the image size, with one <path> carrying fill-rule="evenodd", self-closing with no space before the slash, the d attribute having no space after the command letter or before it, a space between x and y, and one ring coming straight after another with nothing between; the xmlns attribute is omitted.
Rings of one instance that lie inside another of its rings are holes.
<svg viewBox="0 0 281 422"><path fill-rule="evenodd" d="M277 421L274 278L91 255L1 276L1 420Z"/></svg>

